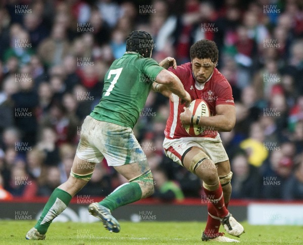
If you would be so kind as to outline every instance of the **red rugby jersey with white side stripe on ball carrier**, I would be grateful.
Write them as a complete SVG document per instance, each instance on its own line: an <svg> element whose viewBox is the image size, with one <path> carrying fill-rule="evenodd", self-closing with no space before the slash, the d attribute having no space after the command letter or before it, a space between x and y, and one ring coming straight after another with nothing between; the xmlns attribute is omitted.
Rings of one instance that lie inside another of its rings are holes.
<svg viewBox="0 0 303 245"><path fill-rule="evenodd" d="M195 81L190 62L178 66L177 70L172 68L168 70L181 80L184 89L190 94L191 100L203 99L207 102L212 116L216 115L216 105L234 105L231 86L217 68L214 69L210 79L204 84L199 84ZM194 137L187 134L185 129L182 128L180 113L184 111L184 104L180 104L180 99L177 95L174 94L173 96L174 103L170 101L170 115L164 131L165 137L168 139ZM217 131L206 129L201 135L196 137L216 138L217 134Z"/></svg>

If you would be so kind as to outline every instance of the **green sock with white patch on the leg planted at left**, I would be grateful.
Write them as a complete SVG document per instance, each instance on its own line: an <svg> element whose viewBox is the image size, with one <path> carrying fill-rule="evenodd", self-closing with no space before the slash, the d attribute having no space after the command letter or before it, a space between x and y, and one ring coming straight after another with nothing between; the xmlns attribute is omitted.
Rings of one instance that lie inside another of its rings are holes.
<svg viewBox="0 0 303 245"><path fill-rule="evenodd" d="M48 226L52 223L53 219L67 208L71 199L72 196L67 192L59 188L54 190L45 204L38 222L34 226L40 234L46 233Z"/></svg>

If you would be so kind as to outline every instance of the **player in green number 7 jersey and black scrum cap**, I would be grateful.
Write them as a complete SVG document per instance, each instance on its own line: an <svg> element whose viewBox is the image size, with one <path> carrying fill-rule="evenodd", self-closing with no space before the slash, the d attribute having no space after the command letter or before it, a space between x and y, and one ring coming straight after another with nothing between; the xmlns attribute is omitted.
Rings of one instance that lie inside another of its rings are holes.
<svg viewBox="0 0 303 245"><path fill-rule="evenodd" d="M186 105L191 100L179 78L164 69L169 66L176 68L175 60L167 57L160 63L164 68L161 67L150 58L153 46L153 38L147 32L133 31L128 35L125 54L111 65L105 75L102 98L82 124L70 176L54 190L36 225L27 232L26 239L45 239L54 218L67 208L72 197L86 185L95 164L104 157L109 166L113 166L129 181L101 202L88 206L89 213L102 220L106 229L120 231L120 225L111 211L153 194L153 175L132 131L140 109L144 107L151 89L163 92L159 91L158 84L165 85L162 86L165 88L163 93L168 97L174 93Z"/></svg>

